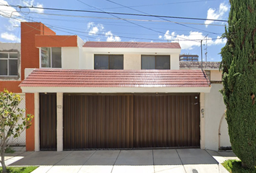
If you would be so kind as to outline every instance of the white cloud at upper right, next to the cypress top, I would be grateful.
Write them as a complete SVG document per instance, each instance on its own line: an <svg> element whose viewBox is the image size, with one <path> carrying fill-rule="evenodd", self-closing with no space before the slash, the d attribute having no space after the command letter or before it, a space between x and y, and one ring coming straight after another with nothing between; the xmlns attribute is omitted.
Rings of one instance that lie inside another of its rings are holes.
<svg viewBox="0 0 256 173"><path fill-rule="evenodd" d="M228 12L228 10L229 7L221 3L218 10L212 8L208 9L207 19L222 19L223 15ZM208 27L208 25L213 22L213 20L205 20L205 27Z"/></svg>

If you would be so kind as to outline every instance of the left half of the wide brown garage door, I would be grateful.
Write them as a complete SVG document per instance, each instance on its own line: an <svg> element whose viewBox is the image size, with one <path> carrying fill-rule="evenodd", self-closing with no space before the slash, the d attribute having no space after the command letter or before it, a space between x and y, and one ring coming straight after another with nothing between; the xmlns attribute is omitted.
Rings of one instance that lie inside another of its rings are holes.
<svg viewBox="0 0 256 173"><path fill-rule="evenodd" d="M132 148L132 110L132 95L64 94L64 149Z"/></svg>

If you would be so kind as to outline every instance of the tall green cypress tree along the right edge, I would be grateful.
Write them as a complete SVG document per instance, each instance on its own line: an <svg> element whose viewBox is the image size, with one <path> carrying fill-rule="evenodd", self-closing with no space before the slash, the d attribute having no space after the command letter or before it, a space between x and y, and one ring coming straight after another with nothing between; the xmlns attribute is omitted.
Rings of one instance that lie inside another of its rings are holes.
<svg viewBox="0 0 256 173"><path fill-rule="evenodd" d="M221 49L223 100L234 154L256 166L256 1L229 0L229 27Z"/></svg>

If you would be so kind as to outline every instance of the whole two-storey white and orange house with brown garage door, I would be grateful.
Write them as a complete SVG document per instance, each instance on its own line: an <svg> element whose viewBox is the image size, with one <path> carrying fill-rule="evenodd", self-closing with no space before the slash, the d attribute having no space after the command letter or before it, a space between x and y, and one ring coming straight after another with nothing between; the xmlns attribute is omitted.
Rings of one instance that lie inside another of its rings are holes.
<svg viewBox="0 0 256 173"><path fill-rule="evenodd" d="M227 131L220 123L221 72L205 69L218 80L213 86L205 71L180 64L180 52L179 43L84 43L22 22L19 86L26 113L35 115L27 151L218 150L216 127Z"/></svg>

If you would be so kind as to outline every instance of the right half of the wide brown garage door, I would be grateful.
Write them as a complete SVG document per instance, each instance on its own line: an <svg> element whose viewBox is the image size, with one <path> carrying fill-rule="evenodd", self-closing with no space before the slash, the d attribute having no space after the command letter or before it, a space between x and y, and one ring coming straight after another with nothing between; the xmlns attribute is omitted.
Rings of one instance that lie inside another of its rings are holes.
<svg viewBox="0 0 256 173"><path fill-rule="evenodd" d="M135 95L134 121L135 148L200 146L198 94Z"/></svg>

